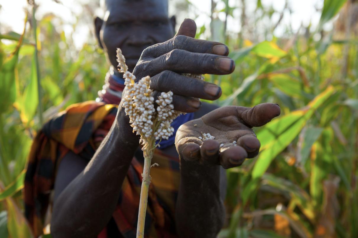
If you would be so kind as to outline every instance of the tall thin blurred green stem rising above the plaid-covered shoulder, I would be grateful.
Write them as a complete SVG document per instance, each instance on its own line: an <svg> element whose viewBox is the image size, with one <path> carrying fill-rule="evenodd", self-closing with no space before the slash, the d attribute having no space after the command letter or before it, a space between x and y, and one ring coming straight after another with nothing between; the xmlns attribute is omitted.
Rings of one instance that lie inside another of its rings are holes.
<svg viewBox="0 0 358 238"><path fill-rule="evenodd" d="M42 115L42 95L41 95L41 84L40 84L40 66L39 66L39 59L38 59L38 49L37 49L37 24L35 19L35 13L36 13L36 4L35 0L32 0L32 28L33 28L33 34L35 39L35 64L36 64L36 75L37 75L37 96L39 101L39 121L40 125L43 125L43 115Z"/></svg>

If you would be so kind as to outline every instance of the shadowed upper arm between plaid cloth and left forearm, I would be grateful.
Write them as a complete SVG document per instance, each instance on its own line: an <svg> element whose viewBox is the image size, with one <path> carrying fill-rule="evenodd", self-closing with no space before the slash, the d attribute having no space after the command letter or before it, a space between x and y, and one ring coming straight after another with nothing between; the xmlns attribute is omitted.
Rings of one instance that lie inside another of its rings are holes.
<svg viewBox="0 0 358 238"><path fill-rule="evenodd" d="M54 198L55 202L61 192L67 187L71 181L80 174L86 167L88 161L79 155L68 152L58 165L57 175L54 184Z"/></svg>

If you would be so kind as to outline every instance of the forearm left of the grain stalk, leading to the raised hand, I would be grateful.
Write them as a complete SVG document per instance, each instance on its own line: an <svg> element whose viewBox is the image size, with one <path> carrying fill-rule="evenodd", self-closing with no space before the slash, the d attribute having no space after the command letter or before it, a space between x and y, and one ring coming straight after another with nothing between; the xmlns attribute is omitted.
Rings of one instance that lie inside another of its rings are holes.
<svg viewBox="0 0 358 238"><path fill-rule="evenodd" d="M110 220L139 144L123 124L113 124L83 172L55 200L54 237L96 237Z"/></svg>

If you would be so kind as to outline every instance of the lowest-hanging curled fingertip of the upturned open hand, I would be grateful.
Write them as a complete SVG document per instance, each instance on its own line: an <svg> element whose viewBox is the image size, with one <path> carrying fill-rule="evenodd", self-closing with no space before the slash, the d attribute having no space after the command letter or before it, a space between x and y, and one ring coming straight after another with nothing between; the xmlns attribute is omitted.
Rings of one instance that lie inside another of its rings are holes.
<svg viewBox="0 0 358 238"><path fill-rule="evenodd" d="M222 149L220 164L224 169L240 166L247 158L247 153L241 146L232 146Z"/></svg>

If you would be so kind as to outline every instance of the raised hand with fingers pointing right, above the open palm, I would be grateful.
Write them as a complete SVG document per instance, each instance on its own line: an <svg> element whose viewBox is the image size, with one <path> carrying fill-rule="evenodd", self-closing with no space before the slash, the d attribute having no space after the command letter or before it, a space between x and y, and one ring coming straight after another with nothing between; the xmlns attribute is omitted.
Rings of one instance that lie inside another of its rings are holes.
<svg viewBox="0 0 358 238"><path fill-rule="evenodd" d="M174 38L146 48L133 70L137 80L149 75L154 96L171 90L174 109L193 112L200 108L200 100L216 100L221 88L216 84L190 78L186 74L230 74L234 61L227 57L226 45L194 39L196 24L185 19Z"/></svg>

